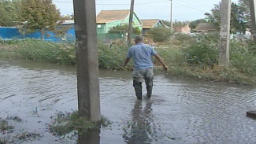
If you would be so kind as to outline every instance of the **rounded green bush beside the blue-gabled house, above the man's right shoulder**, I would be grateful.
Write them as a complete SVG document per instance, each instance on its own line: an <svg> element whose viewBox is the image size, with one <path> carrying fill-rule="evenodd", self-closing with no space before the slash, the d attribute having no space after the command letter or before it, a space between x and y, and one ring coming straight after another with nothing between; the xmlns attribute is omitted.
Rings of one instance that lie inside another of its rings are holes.
<svg viewBox="0 0 256 144"><path fill-rule="evenodd" d="M148 35L154 40L154 42L165 42L172 35L172 31L169 28L151 28L147 32Z"/></svg>

